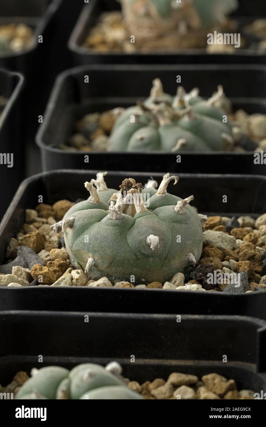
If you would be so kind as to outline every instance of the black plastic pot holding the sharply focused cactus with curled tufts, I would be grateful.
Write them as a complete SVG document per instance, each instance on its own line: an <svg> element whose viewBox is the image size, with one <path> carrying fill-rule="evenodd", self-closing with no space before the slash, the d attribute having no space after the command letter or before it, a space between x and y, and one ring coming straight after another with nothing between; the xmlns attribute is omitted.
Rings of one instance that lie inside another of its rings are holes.
<svg viewBox="0 0 266 427"><path fill-rule="evenodd" d="M84 182L90 181L95 174L96 171L59 170L23 181L0 224L0 260L3 262L10 238L18 233L24 222L24 210L35 208L40 194L44 203L85 199L88 194ZM146 182L151 175L155 180L161 180L158 173L130 173L137 182ZM109 187L117 188L127 176L128 172L109 172L106 182ZM216 215L222 212L226 216L244 214L256 218L266 211L266 177L190 174L179 174L179 177L178 185L171 187L171 193L184 198L193 189L194 205L200 213ZM228 196L228 203L222 203L224 194ZM266 319L265 305L266 291L236 295L119 288L0 287L0 310L238 314Z"/></svg>

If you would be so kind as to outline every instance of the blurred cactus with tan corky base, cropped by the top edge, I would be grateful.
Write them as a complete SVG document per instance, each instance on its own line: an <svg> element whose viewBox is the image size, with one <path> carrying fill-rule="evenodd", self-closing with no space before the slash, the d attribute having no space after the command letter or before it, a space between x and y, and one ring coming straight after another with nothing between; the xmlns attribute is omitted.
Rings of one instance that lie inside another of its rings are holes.
<svg viewBox="0 0 266 427"><path fill-rule="evenodd" d="M169 32L180 35L192 29L220 24L234 9L237 0L120 0L132 34L152 39Z"/></svg>

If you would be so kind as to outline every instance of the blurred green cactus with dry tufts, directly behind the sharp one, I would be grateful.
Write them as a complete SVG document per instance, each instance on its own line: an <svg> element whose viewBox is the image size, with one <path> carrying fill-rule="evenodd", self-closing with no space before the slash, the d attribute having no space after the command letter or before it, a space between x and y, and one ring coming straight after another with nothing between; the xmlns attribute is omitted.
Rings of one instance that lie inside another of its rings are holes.
<svg viewBox="0 0 266 427"><path fill-rule="evenodd" d="M155 79L145 102L127 108L114 124L110 151L210 152L231 151L234 136L226 114L230 101L222 86L205 101L199 90L165 94ZM230 111L229 111L230 112Z"/></svg>

